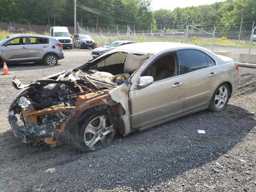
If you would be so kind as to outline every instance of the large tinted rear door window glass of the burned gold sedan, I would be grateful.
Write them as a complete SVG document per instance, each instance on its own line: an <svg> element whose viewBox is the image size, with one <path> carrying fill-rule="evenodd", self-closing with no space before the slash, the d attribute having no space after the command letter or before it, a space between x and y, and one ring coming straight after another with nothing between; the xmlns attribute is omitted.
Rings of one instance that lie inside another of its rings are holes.
<svg viewBox="0 0 256 192"><path fill-rule="evenodd" d="M182 56L182 64L180 65L181 74L200 70L208 67L206 55L198 50L180 50Z"/></svg>

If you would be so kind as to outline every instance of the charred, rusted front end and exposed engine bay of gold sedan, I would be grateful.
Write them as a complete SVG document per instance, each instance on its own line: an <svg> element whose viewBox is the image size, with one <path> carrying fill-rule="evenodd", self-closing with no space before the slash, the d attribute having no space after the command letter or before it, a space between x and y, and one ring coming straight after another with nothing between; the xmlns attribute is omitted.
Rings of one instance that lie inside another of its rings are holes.
<svg viewBox="0 0 256 192"><path fill-rule="evenodd" d="M129 74L114 76L98 70L84 72L76 68L29 84L13 80L13 86L21 89L9 109L8 120L13 133L25 143L45 143L54 148L62 143L60 133L72 129L68 126L78 126L85 110L117 105L108 92L128 78ZM63 135L70 138L68 134Z"/></svg>

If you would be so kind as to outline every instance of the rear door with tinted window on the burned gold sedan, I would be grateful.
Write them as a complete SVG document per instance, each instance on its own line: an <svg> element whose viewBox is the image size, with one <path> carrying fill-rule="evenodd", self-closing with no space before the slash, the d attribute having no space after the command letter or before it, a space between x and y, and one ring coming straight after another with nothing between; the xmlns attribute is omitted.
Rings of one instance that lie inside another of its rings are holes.
<svg viewBox="0 0 256 192"><path fill-rule="evenodd" d="M185 78L183 114L202 108L210 101L217 83L218 66L200 50L178 51L180 74Z"/></svg>

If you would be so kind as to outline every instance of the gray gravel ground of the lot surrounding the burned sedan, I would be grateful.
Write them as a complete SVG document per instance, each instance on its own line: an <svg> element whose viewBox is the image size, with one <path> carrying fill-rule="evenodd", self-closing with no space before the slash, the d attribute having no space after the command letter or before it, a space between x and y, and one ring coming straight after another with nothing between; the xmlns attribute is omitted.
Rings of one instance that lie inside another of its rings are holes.
<svg viewBox="0 0 256 192"><path fill-rule="evenodd" d="M26 146L7 121L16 78L30 82L90 59L89 49L64 50L54 67L8 66L0 76L0 191L256 191L256 69L240 68L241 82L222 112L208 110L128 136L100 151L63 145ZM198 129L206 134L198 134Z"/></svg>

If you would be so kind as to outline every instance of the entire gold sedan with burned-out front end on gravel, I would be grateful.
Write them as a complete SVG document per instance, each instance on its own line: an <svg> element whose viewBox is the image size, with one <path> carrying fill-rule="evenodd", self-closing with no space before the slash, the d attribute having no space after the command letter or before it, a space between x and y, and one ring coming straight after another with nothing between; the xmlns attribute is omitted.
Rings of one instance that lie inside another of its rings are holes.
<svg viewBox="0 0 256 192"><path fill-rule="evenodd" d="M13 80L21 91L8 119L25 143L100 150L116 132L127 135L207 108L223 110L237 89L238 70L231 58L198 46L128 44L46 79Z"/></svg>

